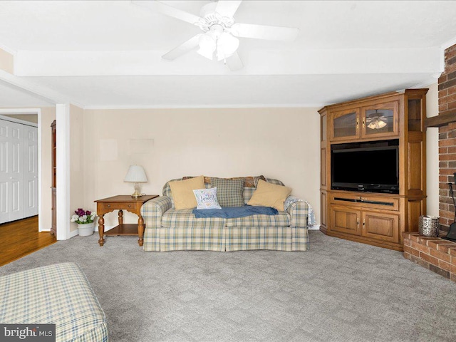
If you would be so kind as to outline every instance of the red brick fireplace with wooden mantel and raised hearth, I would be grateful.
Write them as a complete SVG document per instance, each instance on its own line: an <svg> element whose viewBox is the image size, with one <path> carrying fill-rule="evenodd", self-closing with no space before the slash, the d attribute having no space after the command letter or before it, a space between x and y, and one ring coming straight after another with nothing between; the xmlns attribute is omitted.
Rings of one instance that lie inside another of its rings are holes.
<svg viewBox="0 0 456 342"><path fill-rule="evenodd" d="M439 217L442 235L455 220L448 183L456 192L456 45L445 50L445 71L438 81L439 115L427 118L427 127L439 128ZM404 257L456 281L456 242L403 233Z"/></svg>

